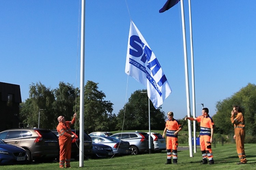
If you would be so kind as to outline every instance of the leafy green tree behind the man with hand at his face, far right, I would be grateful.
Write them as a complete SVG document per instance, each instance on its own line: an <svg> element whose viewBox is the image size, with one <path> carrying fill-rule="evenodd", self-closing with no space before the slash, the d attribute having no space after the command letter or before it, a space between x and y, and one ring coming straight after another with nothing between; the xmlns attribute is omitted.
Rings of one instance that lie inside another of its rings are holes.
<svg viewBox="0 0 256 170"><path fill-rule="evenodd" d="M246 135L256 135L256 86L248 83L248 85L231 97L219 101L216 104L217 113L213 116L219 133L233 134L233 125L230 121L231 110L233 105L239 105L243 108L245 119Z"/></svg>

